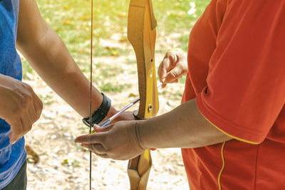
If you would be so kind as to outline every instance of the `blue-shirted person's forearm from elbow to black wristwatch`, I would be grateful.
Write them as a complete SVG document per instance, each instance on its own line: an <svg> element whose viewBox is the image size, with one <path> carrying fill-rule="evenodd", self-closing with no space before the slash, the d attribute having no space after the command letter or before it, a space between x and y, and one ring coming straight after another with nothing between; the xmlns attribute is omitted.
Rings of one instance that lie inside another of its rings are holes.
<svg viewBox="0 0 285 190"><path fill-rule="evenodd" d="M61 38L46 25L45 35L20 47L21 53L43 80L83 117L90 115L90 83L81 73ZM92 111L98 110L102 95L93 88Z"/></svg>

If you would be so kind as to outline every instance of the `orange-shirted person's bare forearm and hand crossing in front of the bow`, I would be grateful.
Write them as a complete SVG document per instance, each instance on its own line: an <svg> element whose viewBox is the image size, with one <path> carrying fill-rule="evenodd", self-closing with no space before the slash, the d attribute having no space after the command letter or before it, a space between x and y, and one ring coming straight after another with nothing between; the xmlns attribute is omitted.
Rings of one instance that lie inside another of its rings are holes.
<svg viewBox="0 0 285 190"><path fill-rule="evenodd" d="M112 159L132 159L145 149L205 147L232 139L201 115L195 99L158 117L117 122L103 129L97 126L95 131L76 138L76 142Z"/></svg>

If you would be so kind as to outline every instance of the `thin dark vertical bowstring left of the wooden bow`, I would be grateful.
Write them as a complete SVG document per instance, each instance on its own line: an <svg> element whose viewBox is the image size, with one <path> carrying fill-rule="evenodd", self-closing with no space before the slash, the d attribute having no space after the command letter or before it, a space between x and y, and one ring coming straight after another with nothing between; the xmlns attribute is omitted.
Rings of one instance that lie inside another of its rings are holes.
<svg viewBox="0 0 285 190"><path fill-rule="evenodd" d="M90 37L91 37L91 44L90 44L90 125L89 125L89 134L92 133L92 68L93 68L93 0L91 0L91 32L90 32ZM89 152L89 189L92 189L91 186L91 181L92 181L92 152Z"/></svg>

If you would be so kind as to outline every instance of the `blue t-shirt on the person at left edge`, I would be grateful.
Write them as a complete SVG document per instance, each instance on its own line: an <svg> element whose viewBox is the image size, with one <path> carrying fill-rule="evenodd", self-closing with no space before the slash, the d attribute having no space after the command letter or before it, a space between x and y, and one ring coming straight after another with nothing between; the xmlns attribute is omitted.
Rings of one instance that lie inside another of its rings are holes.
<svg viewBox="0 0 285 190"><path fill-rule="evenodd" d="M16 51L19 0L0 1L0 73L22 78L21 59ZM9 184L26 160L24 137L9 143L11 128L0 119L0 189Z"/></svg>

